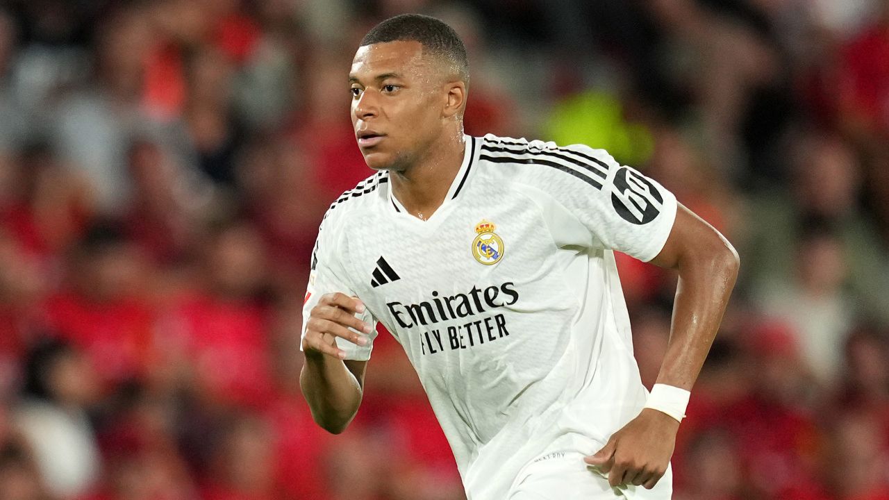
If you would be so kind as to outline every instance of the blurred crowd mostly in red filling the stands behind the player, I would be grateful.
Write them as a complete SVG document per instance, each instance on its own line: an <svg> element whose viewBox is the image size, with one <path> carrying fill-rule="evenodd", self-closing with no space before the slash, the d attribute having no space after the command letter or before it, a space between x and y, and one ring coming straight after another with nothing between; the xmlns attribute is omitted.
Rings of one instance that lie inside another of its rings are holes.
<svg viewBox="0 0 889 500"><path fill-rule="evenodd" d="M0 499L463 498L387 335L340 436L298 383L401 12L468 45L467 133L608 149L738 247L677 500L889 499L886 0L0 2ZM676 277L619 265L651 386Z"/></svg>

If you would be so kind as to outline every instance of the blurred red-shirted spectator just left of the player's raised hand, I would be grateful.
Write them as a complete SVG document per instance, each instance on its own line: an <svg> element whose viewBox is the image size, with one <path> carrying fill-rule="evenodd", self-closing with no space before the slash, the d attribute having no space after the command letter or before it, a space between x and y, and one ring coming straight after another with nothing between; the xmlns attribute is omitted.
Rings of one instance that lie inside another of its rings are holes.
<svg viewBox="0 0 889 500"><path fill-rule="evenodd" d="M188 387L210 404L261 406L271 391L268 319L261 301L267 283L265 248L244 222L212 229L199 281L170 310L160 333L180 345L193 367Z"/></svg>

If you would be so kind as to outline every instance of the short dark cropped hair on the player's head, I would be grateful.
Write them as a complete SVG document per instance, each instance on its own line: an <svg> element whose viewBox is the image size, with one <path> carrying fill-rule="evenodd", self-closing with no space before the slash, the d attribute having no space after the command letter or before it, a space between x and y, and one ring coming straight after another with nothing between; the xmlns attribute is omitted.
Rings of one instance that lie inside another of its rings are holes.
<svg viewBox="0 0 889 500"><path fill-rule="evenodd" d="M423 52L453 63L460 77L469 83L469 59L466 46L457 32L444 21L422 14L399 14L374 26L361 45L412 40L423 45Z"/></svg>

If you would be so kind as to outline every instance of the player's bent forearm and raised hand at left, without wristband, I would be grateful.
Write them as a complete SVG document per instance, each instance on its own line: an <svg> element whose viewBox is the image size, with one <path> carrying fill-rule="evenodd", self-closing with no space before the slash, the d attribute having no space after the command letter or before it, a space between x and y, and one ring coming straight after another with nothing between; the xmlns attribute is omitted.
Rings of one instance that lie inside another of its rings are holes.
<svg viewBox="0 0 889 500"><path fill-rule="evenodd" d="M346 353L337 348L336 337L365 345L363 335L348 329L371 333L371 326L355 317L363 311L364 304L355 298L326 294L312 308L302 338L306 362L300 372L300 388L312 418L334 434L346 430L361 405L367 366L367 361L344 361Z"/></svg>

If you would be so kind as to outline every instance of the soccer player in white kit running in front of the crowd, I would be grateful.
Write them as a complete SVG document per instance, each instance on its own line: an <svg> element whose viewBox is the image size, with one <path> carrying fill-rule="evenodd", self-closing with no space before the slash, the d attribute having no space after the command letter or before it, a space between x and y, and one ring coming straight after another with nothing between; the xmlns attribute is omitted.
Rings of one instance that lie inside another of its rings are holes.
<svg viewBox="0 0 889 500"><path fill-rule="evenodd" d="M312 256L300 383L316 422L338 433L355 416L381 321L420 375L470 500L669 498L733 247L604 150L464 135L466 51L439 20L381 22L348 79L376 173L332 204ZM650 394L614 250L678 271Z"/></svg>

